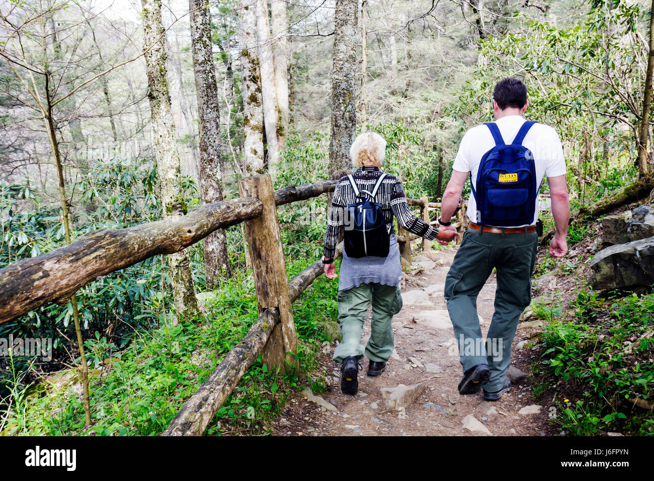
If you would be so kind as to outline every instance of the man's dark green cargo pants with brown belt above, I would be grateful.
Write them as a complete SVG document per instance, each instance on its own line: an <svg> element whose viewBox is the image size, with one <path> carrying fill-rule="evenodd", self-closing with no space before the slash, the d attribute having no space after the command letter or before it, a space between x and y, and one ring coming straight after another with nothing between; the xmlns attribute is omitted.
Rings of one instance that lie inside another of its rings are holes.
<svg viewBox="0 0 654 481"><path fill-rule="evenodd" d="M445 300L464 372L488 364L489 392L502 389L511 365L511 343L520 314L531 302L531 275L538 234L491 234L468 229L445 279ZM477 295L497 271L495 312L484 342L477 317Z"/></svg>

